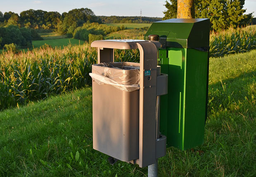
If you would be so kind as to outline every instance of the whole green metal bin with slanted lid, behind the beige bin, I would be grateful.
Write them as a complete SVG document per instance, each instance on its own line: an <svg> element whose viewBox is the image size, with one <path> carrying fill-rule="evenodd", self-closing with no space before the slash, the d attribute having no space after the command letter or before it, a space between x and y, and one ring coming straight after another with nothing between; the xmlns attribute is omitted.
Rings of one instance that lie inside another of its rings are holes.
<svg viewBox="0 0 256 177"><path fill-rule="evenodd" d="M161 96L160 132L167 146L185 150L204 142L209 75L209 19L152 23L145 35L159 35L161 72L168 94Z"/></svg>

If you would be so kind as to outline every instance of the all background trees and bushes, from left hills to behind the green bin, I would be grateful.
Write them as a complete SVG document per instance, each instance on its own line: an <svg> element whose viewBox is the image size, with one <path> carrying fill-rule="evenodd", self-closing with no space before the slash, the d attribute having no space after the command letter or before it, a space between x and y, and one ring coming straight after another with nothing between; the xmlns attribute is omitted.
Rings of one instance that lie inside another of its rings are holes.
<svg viewBox="0 0 256 177"><path fill-rule="evenodd" d="M164 19L176 18L177 0L166 1L165 6ZM244 0L213 0L210 4L206 0L195 0L195 15L196 18L209 18L213 31L237 28L255 22L252 13L245 14L243 6ZM43 40L38 33L45 31L90 42L126 29L123 25L109 26L106 23L153 23L160 20L140 16L95 16L88 8L72 9L62 14L33 9L20 14L0 12L0 48L15 48L14 45L16 48L31 48L32 40Z"/></svg>

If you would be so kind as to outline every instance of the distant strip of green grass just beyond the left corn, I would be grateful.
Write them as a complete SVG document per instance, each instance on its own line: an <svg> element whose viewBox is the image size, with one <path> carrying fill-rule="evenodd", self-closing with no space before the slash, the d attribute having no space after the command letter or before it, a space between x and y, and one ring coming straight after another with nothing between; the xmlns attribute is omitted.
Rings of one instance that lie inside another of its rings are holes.
<svg viewBox="0 0 256 177"><path fill-rule="evenodd" d="M43 44L49 44L52 47L61 47L63 49L63 46L67 46L69 43L78 45L84 44L84 41L68 38L32 41L34 48L39 48Z"/></svg>

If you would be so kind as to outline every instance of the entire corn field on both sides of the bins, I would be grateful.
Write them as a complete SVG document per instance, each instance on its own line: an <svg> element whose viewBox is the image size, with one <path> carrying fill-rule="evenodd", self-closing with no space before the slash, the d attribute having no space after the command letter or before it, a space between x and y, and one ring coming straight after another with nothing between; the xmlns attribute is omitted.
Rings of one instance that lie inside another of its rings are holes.
<svg viewBox="0 0 256 177"><path fill-rule="evenodd" d="M210 56L256 49L255 39L254 28L211 33ZM115 61L137 62L139 51L115 50ZM95 63L97 50L88 43L19 54L3 51L0 54L0 110L90 85L89 72Z"/></svg>

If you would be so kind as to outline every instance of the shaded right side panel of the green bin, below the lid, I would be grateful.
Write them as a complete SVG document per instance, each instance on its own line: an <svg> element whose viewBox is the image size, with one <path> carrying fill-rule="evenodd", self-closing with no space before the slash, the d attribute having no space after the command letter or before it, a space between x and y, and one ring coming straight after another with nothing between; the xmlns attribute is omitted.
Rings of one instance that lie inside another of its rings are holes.
<svg viewBox="0 0 256 177"><path fill-rule="evenodd" d="M208 52L187 49L186 58L184 149L198 146L204 142L208 92Z"/></svg>

